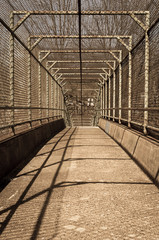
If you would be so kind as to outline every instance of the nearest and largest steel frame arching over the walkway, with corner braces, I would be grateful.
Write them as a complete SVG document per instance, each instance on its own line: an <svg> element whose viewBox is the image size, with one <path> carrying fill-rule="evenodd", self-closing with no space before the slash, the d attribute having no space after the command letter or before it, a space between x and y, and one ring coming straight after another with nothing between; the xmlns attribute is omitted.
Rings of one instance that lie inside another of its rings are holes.
<svg viewBox="0 0 159 240"><path fill-rule="evenodd" d="M149 11L81 11L81 15L128 15L130 16L145 32L145 98L144 98L144 133L147 134L146 127L148 125L148 83L149 83L149 37L148 30L150 27L150 13ZM24 15L18 23L14 26L14 15ZM10 16L10 28L15 32L31 15L79 15L78 11L13 11ZM145 15L145 24L141 22L137 16ZM39 39L39 41L41 41ZM129 51L131 53L131 51ZM129 57L131 58L129 53ZM10 37L10 100L11 105L14 106L14 36ZM29 84L28 84L29 86ZM131 82L129 82L129 91L131 91ZM129 95L130 107L131 96ZM28 105L29 105L28 99ZM128 124L130 125L131 112L128 112ZM14 122L14 112L13 112Z"/></svg>

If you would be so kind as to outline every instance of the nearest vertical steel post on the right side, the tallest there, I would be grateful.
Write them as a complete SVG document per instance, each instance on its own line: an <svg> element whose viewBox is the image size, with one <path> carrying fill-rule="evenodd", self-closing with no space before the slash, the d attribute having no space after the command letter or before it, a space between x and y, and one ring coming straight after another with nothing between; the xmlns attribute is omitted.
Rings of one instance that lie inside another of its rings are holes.
<svg viewBox="0 0 159 240"><path fill-rule="evenodd" d="M150 15L146 14L146 30L145 30L145 98L144 98L144 108L148 108L148 97L149 97L149 36L148 29L150 25ZM148 111L144 111L144 134L147 134L148 125Z"/></svg>

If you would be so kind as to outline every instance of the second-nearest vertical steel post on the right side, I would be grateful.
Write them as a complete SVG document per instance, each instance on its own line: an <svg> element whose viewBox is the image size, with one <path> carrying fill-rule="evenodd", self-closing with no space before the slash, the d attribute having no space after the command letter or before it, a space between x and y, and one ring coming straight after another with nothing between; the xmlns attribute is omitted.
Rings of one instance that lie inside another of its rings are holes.
<svg viewBox="0 0 159 240"><path fill-rule="evenodd" d="M131 83L132 83L132 37L129 38L129 83L128 83L128 108L131 108ZM131 127L131 109L128 110L128 127Z"/></svg>

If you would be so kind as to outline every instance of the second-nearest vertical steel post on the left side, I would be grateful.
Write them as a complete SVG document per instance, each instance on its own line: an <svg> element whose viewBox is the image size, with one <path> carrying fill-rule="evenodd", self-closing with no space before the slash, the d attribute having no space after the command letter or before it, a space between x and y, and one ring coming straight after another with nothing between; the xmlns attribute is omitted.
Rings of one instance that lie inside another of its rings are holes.
<svg viewBox="0 0 159 240"><path fill-rule="evenodd" d="M31 39L28 38L28 48L31 48ZM31 111L31 55L28 52L28 118L32 120L32 111Z"/></svg>

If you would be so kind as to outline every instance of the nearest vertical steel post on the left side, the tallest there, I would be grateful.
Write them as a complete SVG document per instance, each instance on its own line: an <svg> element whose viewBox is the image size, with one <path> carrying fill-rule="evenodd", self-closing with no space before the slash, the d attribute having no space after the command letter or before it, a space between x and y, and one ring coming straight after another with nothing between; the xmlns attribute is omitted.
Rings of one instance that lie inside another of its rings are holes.
<svg viewBox="0 0 159 240"><path fill-rule="evenodd" d="M14 14L10 14L10 28L14 28ZM14 124L14 37L10 35L10 123Z"/></svg>

